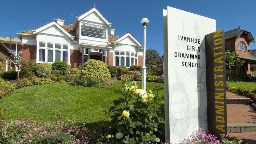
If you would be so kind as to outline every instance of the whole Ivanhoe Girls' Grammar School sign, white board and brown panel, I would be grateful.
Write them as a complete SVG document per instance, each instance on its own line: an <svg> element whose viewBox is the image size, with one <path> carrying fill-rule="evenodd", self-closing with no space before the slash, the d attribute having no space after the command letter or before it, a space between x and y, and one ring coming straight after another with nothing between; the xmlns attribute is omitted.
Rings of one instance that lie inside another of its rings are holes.
<svg viewBox="0 0 256 144"><path fill-rule="evenodd" d="M216 129L226 133L224 32L215 32L214 19L173 7L163 10L163 28L165 139L180 143L198 127L219 137Z"/></svg>

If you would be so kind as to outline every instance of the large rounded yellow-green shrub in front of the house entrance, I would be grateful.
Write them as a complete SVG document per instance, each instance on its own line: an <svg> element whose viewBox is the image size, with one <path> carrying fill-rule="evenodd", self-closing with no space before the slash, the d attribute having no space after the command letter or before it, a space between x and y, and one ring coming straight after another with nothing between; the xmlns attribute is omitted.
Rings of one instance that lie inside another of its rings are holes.
<svg viewBox="0 0 256 144"><path fill-rule="evenodd" d="M81 70L81 77L87 79L104 80L110 78L108 67L100 60L89 59L83 64Z"/></svg>

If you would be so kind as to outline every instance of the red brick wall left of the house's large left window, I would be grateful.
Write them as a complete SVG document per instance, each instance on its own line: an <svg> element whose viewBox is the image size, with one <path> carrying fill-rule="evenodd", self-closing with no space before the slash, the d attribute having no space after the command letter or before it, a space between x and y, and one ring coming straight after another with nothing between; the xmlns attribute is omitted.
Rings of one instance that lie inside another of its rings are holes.
<svg viewBox="0 0 256 144"><path fill-rule="evenodd" d="M21 59L37 60L37 46L36 45L21 45Z"/></svg>

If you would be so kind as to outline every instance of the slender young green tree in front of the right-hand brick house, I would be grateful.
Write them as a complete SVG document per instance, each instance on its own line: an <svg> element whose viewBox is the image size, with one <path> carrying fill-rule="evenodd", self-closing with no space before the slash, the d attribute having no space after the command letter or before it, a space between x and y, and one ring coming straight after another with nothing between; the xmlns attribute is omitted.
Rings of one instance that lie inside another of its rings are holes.
<svg viewBox="0 0 256 144"><path fill-rule="evenodd" d="M235 52L231 52L229 50L227 50L227 52L225 53L225 65L227 68L227 72L228 72L228 82L229 82L229 75L231 70L235 67L235 66L241 66L244 64L244 61L241 60L239 57L239 55L237 55Z"/></svg>

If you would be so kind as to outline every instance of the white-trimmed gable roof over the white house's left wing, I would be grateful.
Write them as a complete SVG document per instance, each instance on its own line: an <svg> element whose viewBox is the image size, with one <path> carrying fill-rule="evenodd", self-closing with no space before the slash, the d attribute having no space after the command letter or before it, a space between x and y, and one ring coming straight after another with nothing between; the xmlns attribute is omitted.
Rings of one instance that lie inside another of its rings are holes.
<svg viewBox="0 0 256 144"><path fill-rule="evenodd" d="M64 32L64 34L66 34L68 37L70 37L70 39L72 39L72 40L74 39L74 36L72 34L70 34L66 29L64 29L61 25L59 25L59 23L57 23L56 21L51 21L50 23L40 26L39 28L34 29L34 30L20 31L17 34L18 34L18 36L19 35L34 35L50 26L53 26L53 25L57 26L61 31Z"/></svg>

